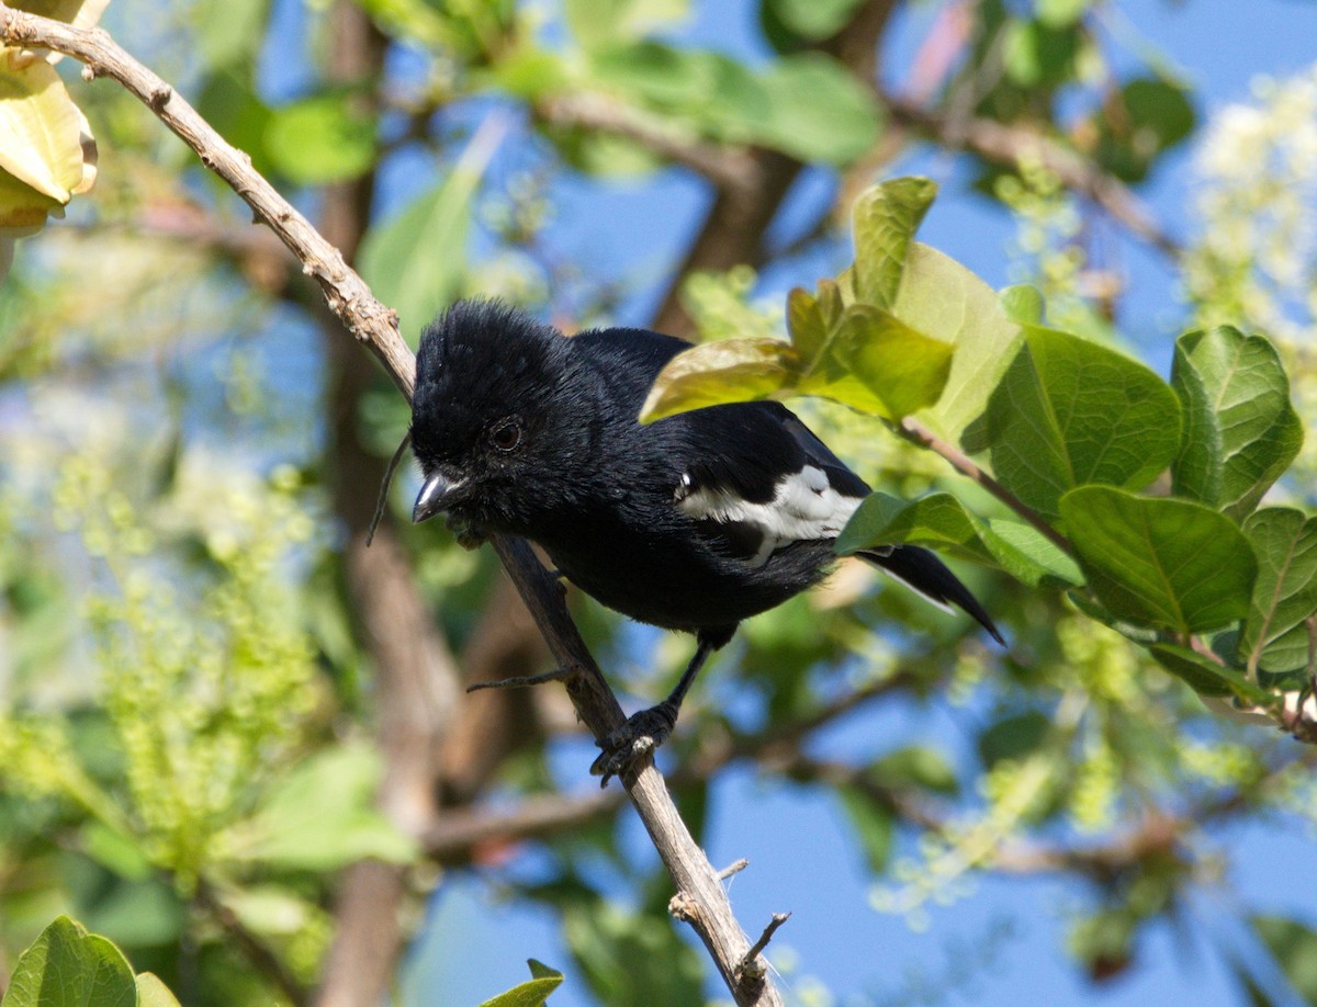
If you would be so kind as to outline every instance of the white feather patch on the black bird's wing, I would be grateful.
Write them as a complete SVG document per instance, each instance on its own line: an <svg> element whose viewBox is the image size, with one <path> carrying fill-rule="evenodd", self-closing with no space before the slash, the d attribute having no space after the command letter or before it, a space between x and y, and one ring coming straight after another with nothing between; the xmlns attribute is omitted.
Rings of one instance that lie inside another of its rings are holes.
<svg viewBox="0 0 1317 1007"><path fill-rule="evenodd" d="M764 541L747 562L763 566L774 549L813 538L836 538L860 505L859 496L832 488L827 473L807 465L778 480L769 503L749 503L730 490L691 488L689 474L681 477L677 505L697 521L745 524Z"/></svg>

